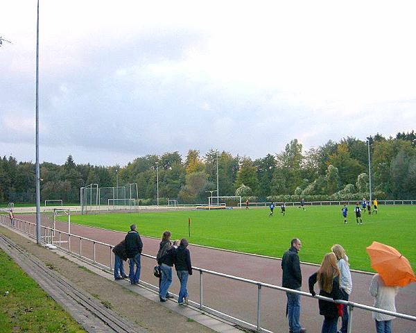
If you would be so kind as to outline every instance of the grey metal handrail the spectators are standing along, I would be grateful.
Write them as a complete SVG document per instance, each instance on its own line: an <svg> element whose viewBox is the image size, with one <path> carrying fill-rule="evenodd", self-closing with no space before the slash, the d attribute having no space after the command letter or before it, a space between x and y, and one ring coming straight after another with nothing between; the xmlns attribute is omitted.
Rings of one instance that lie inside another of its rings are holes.
<svg viewBox="0 0 416 333"><path fill-rule="evenodd" d="M7 224L6 221L10 221L10 217L6 216L6 215L0 215L0 221L3 224ZM25 221L25 220L22 220L22 219L14 219L14 221L15 221L14 228L16 228L17 230L20 230L21 232L29 234L29 236L31 236L31 237L35 237L35 235L31 234L31 225L33 225L33 227L34 227L33 232L35 232L35 229L36 229L35 228L35 223L31 223L31 222L28 222L28 221ZM24 228L23 228L23 225L22 225L23 223L25 224ZM70 234L68 232L64 232L64 231L61 231L61 230L56 230L56 229L53 229L53 228L50 228L50 227L47 227L47 226L44 226L44 225L42 225L42 228L43 228L43 231L44 231L44 237L43 237L44 242L46 241L46 239L49 239L49 241L52 242L53 238L54 238L53 237L53 232L58 232L59 241L55 241L55 243L59 244L58 247L61 250L72 253L73 255L76 255L76 257L81 257L83 259L86 259L88 262L92 263L93 265L99 266L100 268L104 267L104 268L107 268L110 271L113 271L113 268L112 268L112 262L113 262L113 260L112 260L112 257L113 257L112 248L114 248L113 245L107 244L107 243L104 243L104 242L101 242L101 241L96 241L94 239L89 239L87 237L78 236L76 234ZM47 232L47 234L46 234L46 232ZM66 248L62 248L60 246L61 234L67 235L67 237L68 237L68 241L69 241L68 250ZM71 251L71 248L70 248L70 239L71 239L71 237L76 237L77 239L80 239L79 253L74 253L73 251ZM82 255L82 240L92 242L93 248L94 248L94 257L93 257L93 259L85 257L85 256ZM107 266L105 264L101 264L101 263L96 261L96 255L95 255L96 254L96 248L95 248L96 244L99 244L99 245L102 245L102 246L107 246L110 249L110 266ZM156 257L154 255L148 255L146 253L141 253L141 255L143 257L148 257L150 259L156 259ZM406 319L406 320L409 320L409 321L416 321L416 316L410 316L408 314L401 314L399 312L393 312L393 311L388 311L388 310L384 310L384 309L379 309L379 308L376 308L376 307L371 307L369 305L363 305L363 304L357 303L357 302L351 302L351 301L346 301L346 300L333 300L332 298L327 298L327 297L320 296L320 295L312 296L311 293L308 293L306 291L297 291L297 290L294 290L294 289L288 289L288 288L277 286L275 284L268 284L268 283L260 282L260 281L257 281L257 280L250 280L250 279L246 279L246 278L241 278L241 277L238 277L238 276L229 275L229 274L225 274L225 273L220 273L220 272L217 272L217 271L211 271L209 269L200 268L200 267L196 267L196 266L192 266L192 268L200 273L200 300L199 300L199 302L193 302L195 305L197 305L200 309L204 309L205 311L212 311L216 314L219 314L220 316L225 316L226 318L229 318L232 321L235 321L235 322L238 322L238 323L243 323L243 325L247 325L247 326L251 327L252 329L257 330L258 332L271 332L271 331L266 330L265 328L261 327L261 290L263 289L263 287L278 290L278 291L284 291L284 292L288 292L288 293L296 293L300 296L309 297L309 298L317 298L319 300L326 300L327 302L334 302L334 303L343 304L343 305L347 306L349 308L349 313L350 313L349 325L348 325L348 332L349 333L352 332L352 311L353 311L354 308L364 309L366 311L378 312L380 314L388 314L390 316L395 316L397 318L403 318L403 319ZM248 322L243 321L239 318L235 318L235 317L229 316L229 315L227 315L223 312L220 312L220 311L217 311L215 309L211 309L209 307L206 307L203 304L203 297L202 297L203 296L203 279L202 279L203 273L216 275L216 276L219 276L221 278L227 278L227 279L230 279L230 280L235 280L235 281L239 281L239 282L245 282L245 283L248 283L248 284L256 285L257 286L257 323L256 324L248 323ZM155 287L155 286L153 286L153 287Z"/></svg>

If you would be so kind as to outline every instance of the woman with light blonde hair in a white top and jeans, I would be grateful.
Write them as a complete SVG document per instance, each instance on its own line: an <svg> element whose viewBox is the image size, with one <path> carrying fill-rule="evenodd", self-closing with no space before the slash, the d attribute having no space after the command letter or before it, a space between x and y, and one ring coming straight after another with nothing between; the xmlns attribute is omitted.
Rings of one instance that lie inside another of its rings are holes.
<svg viewBox="0 0 416 333"><path fill-rule="evenodd" d="M351 271L349 271L349 262L348 257L345 254L345 250L340 244L334 244L331 247L331 251L336 255L337 265L341 273L341 299L348 300L349 295L352 292L352 278ZM347 333L348 330L348 308L344 307L343 309L343 324L340 329L340 333Z"/></svg>

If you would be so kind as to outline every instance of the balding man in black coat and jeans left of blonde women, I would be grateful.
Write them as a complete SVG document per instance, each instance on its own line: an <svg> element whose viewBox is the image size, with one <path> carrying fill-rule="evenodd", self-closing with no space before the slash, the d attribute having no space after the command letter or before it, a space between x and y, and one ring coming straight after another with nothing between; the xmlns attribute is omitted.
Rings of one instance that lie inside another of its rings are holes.
<svg viewBox="0 0 416 333"><path fill-rule="evenodd" d="M283 270L281 286L288 289L300 290L302 286L302 273L300 271L299 252L302 243L299 239L294 238L291 241L291 248L289 248L281 259L281 269ZM286 305L286 314L289 321L290 333L306 332L304 327L301 327L300 321L300 295L297 293L290 293L286 291L288 302Z"/></svg>

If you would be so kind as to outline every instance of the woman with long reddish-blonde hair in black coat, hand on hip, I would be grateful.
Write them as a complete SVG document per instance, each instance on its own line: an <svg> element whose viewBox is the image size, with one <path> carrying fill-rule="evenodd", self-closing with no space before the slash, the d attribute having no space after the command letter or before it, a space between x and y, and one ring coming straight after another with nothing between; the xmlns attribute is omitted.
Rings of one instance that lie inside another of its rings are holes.
<svg viewBox="0 0 416 333"><path fill-rule="evenodd" d="M315 296L313 286L319 283L320 296L332 298L333 300L340 300L340 270L336 264L336 255L327 253L324 255L322 264L318 272L313 273L309 277L309 292ZM333 302L326 300L319 300L319 313L324 316L324 323L322 323L322 333L336 333L336 323L338 321L338 314L342 305L336 305Z"/></svg>

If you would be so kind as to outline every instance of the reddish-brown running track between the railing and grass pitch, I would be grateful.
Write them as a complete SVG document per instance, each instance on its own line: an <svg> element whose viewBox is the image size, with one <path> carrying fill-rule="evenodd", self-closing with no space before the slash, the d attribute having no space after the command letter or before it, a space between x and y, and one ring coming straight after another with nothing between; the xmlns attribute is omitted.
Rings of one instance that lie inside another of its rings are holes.
<svg viewBox="0 0 416 333"><path fill-rule="evenodd" d="M26 221L34 221L34 215L23 217ZM46 222L46 221L45 221ZM43 223L42 223L43 224ZM45 223L49 225L49 223ZM59 230L67 231L66 223L58 223ZM128 230L125 230L127 232ZM140 230L138 230L140 232ZM125 237L125 232L115 232L71 224L71 234L76 234L103 243L116 245ZM162 234L162 231L161 231ZM177 237L173 235L174 237ZM177 237L179 238L179 237ZM144 244L143 253L156 255L159 249L159 239L141 236ZM288 247L290 240L288 239ZM79 241L71 239L71 250L78 253ZM218 271L241 278L258 280L269 284L281 285L281 261L254 255L233 253L225 250L204 248L201 246L189 246L192 266ZM92 245L83 242L83 255L92 257ZM282 253L283 255L283 253ZM324 255L324 253L322 253ZM110 254L108 248L96 246L96 258L109 265ZM300 251L302 261L302 250ZM158 279L153 276L155 260L142 257L140 280L157 285ZM124 264L128 273L128 265ZM302 291L309 292L308 278L317 271L318 266L302 264ZM352 272L353 291L349 300L365 305L373 305L372 296L368 291L372 279L371 274ZM199 302L199 272L194 271L188 282L189 297ZM179 283L173 268L173 284L170 290L179 293ZM318 285L315 285L318 292ZM225 314L256 323L257 318L257 286L226 278L220 278L207 273L203 274L203 304ZM399 290L396 298L397 311L416 316L416 283L410 284ZM286 314L286 294L281 291L264 288L261 291L261 327L272 332L288 332ZM301 298L300 322L308 332L320 332L323 316L320 316L318 300L313 298ZM370 311L354 309L352 318L352 332L375 332L374 321ZM416 323L396 318L392 324L393 332L416 332Z"/></svg>

